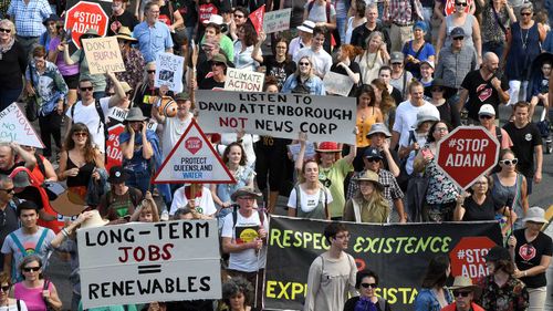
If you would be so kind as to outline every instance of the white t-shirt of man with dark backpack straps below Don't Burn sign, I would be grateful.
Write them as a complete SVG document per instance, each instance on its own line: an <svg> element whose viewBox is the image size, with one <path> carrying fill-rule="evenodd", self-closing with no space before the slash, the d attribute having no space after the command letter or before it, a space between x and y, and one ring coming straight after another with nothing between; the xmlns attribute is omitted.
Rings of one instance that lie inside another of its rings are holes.
<svg viewBox="0 0 553 311"><path fill-rule="evenodd" d="M104 112L104 117L108 115L109 110L109 97L100 99L100 106ZM98 147L98 149L105 152L105 135L104 135L104 123L100 122L100 115L96 111L96 103L85 106L83 102L79 101L75 103L74 114L71 115L72 107L67 110L65 115L71 117L73 123L84 123L92 135L92 142ZM104 120L105 122L105 120Z"/></svg>

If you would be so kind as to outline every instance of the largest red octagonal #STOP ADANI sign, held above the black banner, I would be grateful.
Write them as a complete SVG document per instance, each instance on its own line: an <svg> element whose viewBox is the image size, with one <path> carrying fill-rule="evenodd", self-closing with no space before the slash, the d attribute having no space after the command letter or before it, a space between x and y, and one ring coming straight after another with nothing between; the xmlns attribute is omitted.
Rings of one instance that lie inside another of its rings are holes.
<svg viewBox="0 0 553 311"><path fill-rule="evenodd" d="M459 126L438 143L438 167L460 188L469 188L498 163L499 142L482 126Z"/></svg>

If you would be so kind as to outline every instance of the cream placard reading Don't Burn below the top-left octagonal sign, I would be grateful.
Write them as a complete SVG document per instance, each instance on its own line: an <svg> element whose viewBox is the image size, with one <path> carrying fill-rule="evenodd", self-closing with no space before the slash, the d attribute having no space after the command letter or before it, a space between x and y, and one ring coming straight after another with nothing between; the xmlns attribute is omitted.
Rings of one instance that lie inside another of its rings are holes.
<svg viewBox="0 0 553 311"><path fill-rule="evenodd" d="M82 41L91 74L125 71L117 38L105 37L83 39Z"/></svg>

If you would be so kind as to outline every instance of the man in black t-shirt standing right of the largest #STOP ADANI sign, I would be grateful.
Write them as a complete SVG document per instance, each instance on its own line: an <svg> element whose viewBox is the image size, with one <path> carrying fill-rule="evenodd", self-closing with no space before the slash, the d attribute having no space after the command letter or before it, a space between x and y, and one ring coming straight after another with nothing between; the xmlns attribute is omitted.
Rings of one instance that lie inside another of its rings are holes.
<svg viewBox="0 0 553 311"><path fill-rule="evenodd" d="M513 106L514 122L503 126L513 141L512 151L519 159L518 169L526 177L528 195L532 194L532 180L542 180L542 136L534 123L530 122L530 104L518 102ZM535 170L534 170L535 156Z"/></svg>

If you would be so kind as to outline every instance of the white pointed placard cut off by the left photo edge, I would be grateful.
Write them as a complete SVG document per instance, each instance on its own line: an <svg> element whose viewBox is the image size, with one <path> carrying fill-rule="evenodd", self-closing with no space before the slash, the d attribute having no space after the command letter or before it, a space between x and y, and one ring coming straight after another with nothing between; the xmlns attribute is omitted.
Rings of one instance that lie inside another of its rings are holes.
<svg viewBox="0 0 553 311"><path fill-rule="evenodd" d="M0 112L0 142L44 148L39 135L17 103Z"/></svg>

